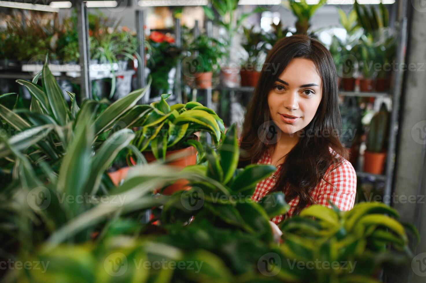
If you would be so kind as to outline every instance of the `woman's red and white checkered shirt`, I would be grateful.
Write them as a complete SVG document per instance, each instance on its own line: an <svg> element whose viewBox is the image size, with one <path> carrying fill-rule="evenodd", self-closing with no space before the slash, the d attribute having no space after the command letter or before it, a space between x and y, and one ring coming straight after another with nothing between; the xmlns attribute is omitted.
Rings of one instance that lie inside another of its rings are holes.
<svg viewBox="0 0 426 283"><path fill-rule="evenodd" d="M330 152L333 152L331 148ZM340 156L337 155L337 157ZM257 163L271 164L271 157L269 156L268 150L265 151ZM277 166L277 171L273 175L257 183L256 190L252 195L253 200L256 202L261 200L262 197L273 188L277 179L277 173L281 169L281 165L282 164ZM331 207L328 203L328 200L331 200L331 202L341 211L350 210L354 207L355 194L357 192L357 174L355 169L346 159L343 160L337 168L331 171L332 166L333 165L327 169L323 179L320 183L318 183L315 189L311 190L311 195L316 204ZM328 181L328 183L325 182L325 180ZM296 209L297 203L299 203L299 197L295 197L293 200L290 200L288 202L290 210L284 215L273 217L271 221L278 224L283 220L283 218L291 217L294 209Z"/></svg>

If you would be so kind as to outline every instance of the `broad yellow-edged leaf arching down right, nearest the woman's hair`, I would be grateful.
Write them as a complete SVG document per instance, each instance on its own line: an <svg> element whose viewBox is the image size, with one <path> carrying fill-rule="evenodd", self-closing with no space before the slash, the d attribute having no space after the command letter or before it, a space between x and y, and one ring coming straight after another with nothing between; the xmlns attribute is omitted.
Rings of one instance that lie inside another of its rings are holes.
<svg viewBox="0 0 426 283"><path fill-rule="evenodd" d="M209 113L202 110L191 109L181 113L179 117L177 117L174 121L174 123L177 125L179 125L180 123L184 124L188 122L193 122L201 126L205 126L211 131L213 131L213 138L216 143L219 143L221 136L220 128L214 117L212 117Z"/></svg>

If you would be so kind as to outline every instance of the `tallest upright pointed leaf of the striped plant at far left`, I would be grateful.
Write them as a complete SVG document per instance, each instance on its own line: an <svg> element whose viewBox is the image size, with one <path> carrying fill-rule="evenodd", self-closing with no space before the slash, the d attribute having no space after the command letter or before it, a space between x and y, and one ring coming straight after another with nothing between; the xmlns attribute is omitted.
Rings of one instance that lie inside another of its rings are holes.
<svg viewBox="0 0 426 283"><path fill-rule="evenodd" d="M47 56L43 66L43 87L46 91L47 101L49 101L53 117L55 117L59 125L65 125L69 120L68 107L63 97L62 90L47 66ZM42 101L40 101L40 103L42 103Z"/></svg>

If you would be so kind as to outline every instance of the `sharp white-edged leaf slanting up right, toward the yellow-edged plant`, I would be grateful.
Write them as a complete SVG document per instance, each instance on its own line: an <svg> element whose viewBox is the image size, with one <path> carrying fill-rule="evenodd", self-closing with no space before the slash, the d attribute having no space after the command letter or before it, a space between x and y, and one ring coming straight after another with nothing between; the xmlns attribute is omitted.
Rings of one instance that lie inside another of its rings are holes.
<svg viewBox="0 0 426 283"><path fill-rule="evenodd" d="M147 89L150 87L150 83L151 80L144 89L132 91L108 106L108 108L105 109L105 111L102 112L95 120L95 136L101 134L101 132L111 126L118 117L135 106L138 100L140 100L147 92Z"/></svg>

